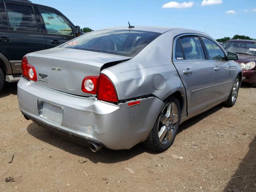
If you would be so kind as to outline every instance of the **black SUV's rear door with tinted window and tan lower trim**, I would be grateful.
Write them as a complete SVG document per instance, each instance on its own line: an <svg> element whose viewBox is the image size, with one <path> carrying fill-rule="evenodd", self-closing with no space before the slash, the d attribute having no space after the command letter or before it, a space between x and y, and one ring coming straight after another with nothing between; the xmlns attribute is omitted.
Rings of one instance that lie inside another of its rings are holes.
<svg viewBox="0 0 256 192"><path fill-rule="evenodd" d="M44 34L33 6L0 2L0 8L0 52L10 61L13 74L19 74L24 55L46 49Z"/></svg>

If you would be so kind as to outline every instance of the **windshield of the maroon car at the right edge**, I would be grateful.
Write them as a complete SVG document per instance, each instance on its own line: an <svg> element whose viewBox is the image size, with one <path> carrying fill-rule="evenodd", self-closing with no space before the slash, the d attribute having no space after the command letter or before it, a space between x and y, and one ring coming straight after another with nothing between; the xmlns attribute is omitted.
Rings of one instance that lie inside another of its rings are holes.
<svg viewBox="0 0 256 192"><path fill-rule="evenodd" d="M252 42L227 41L224 44L222 44L222 47L227 52L256 56L256 41L252 41Z"/></svg>

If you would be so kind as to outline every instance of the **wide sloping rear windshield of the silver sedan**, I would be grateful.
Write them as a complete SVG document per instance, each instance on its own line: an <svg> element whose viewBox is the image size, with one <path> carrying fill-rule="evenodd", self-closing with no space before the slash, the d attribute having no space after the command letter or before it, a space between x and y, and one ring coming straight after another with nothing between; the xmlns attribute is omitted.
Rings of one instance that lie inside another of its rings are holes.
<svg viewBox="0 0 256 192"><path fill-rule="evenodd" d="M134 57L158 36L160 33L148 31L99 30L84 34L62 48Z"/></svg>

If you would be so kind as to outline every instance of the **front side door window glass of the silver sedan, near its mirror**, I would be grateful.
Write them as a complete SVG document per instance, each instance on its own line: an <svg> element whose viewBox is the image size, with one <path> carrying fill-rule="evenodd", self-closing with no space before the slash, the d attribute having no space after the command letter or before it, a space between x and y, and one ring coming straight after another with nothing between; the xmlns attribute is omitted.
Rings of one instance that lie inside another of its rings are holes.
<svg viewBox="0 0 256 192"><path fill-rule="evenodd" d="M210 60L226 60L224 52L216 43L205 37L202 37L202 40L209 54Z"/></svg>

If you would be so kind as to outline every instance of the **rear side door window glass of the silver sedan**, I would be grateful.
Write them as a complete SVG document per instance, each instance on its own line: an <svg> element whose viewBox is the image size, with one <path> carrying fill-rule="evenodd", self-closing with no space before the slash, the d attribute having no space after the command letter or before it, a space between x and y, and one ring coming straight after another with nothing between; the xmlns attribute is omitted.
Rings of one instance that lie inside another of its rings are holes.
<svg viewBox="0 0 256 192"><path fill-rule="evenodd" d="M186 60L205 60L204 50L198 37L180 39Z"/></svg>

